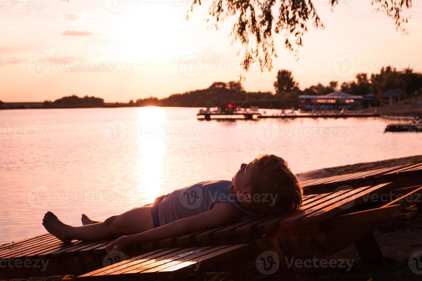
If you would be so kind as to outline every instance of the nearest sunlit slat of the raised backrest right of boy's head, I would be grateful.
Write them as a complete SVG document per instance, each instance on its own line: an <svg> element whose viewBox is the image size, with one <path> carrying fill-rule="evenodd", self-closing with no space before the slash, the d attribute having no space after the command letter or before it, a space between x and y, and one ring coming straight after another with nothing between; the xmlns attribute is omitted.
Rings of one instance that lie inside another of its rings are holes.
<svg viewBox="0 0 422 281"><path fill-rule="evenodd" d="M325 219L328 219L330 217L333 217L337 214L340 214L346 211L346 209L340 208L341 206L344 206L344 204L347 204L353 201L352 206L357 206L360 203L364 202L365 198L363 198L363 196L365 195L370 196L372 194L381 194L381 193L391 190L393 187L394 187L394 184L392 182L387 182L387 183L382 183L380 185L376 185L370 188L362 188L362 189L357 188L356 190L348 193L346 196L339 197L338 199L341 199L340 201L333 202L328 206L324 206L324 208L322 209L308 212L306 214L306 217L303 218L303 222L304 223L322 222ZM288 223L289 223L288 221L284 222L284 225Z"/></svg>

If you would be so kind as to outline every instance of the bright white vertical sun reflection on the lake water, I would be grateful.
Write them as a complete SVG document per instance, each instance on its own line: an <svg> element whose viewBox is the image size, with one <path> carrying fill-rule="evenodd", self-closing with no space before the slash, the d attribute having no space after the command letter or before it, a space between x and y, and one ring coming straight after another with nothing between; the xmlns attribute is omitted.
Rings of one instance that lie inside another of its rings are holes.
<svg viewBox="0 0 422 281"><path fill-rule="evenodd" d="M161 178L166 139L160 133L160 128L164 127L164 120L164 110L160 107L139 108L139 183L149 202L164 194Z"/></svg>

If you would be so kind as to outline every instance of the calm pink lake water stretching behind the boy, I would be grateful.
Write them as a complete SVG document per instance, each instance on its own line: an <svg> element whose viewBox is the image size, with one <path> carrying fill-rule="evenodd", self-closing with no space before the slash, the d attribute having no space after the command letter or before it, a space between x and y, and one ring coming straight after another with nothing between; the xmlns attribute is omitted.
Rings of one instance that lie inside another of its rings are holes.
<svg viewBox="0 0 422 281"><path fill-rule="evenodd" d="M102 220L176 188L231 179L262 149L295 173L421 153L420 139L384 133L381 118L203 121L197 111L0 111L0 244L45 233L46 211L80 225L82 213Z"/></svg>

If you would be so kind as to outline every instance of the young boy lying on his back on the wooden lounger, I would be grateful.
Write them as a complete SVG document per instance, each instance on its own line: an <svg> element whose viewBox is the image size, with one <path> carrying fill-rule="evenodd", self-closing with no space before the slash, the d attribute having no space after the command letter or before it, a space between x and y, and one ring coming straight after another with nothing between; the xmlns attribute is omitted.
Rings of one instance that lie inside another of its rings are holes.
<svg viewBox="0 0 422 281"><path fill-rule="evenodd" d="M52 212L43 218L46 230L63 242L100 240L121 236L107 252L123 251L132 244L225 225L259 214L298 209L303 190L286 161L276 155L259 155L241 164L232 180L200 182L157 198L143 206L93 221L82 214L83 226L61 222Z"/></svg>

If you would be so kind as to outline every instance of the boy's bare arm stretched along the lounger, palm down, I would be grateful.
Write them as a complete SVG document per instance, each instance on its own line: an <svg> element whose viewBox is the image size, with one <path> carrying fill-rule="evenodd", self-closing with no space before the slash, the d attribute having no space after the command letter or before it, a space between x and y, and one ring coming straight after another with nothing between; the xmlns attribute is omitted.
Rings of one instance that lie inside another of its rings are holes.
<svg viewBox="0 0 422 281"><path fill-rule="evenodd" d="M162 225L142 233L117 238L107 245L107 251L123 250L132 244L160 240L178 234L225 225L245 216L243 211L232 206L230 203L216 202L214 204L216 204L214 208L205 213L178 219L167 225Z"/></svg>

